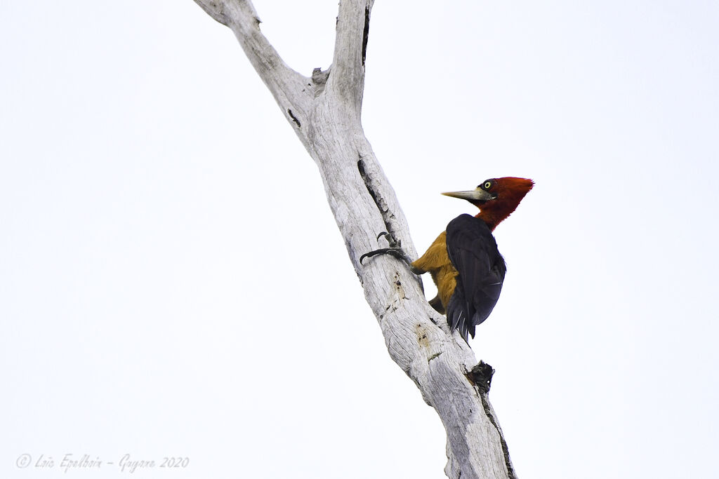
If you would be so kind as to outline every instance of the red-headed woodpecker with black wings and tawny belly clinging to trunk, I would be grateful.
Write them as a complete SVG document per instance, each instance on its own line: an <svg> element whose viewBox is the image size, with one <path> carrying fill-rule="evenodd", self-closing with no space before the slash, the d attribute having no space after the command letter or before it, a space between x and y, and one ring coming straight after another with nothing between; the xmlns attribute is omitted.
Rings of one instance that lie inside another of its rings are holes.
<svg viewBox="0 0 719 479"><path fill-rule="evenodd" d="M380 233L388 237L390 247L365 253L359 262L391 254L405 261L414 274L429 273L437 286L437 295L429 304L446 314L450 330L459 330L465 341L467 335L474 338L475 327L497 304L507 272L492 232L516 210L533 185L526 178L490 178L474 190L444 192L442 195L469 201L480 212L450 221L416 261L411 261L388 233Z"/></svg>

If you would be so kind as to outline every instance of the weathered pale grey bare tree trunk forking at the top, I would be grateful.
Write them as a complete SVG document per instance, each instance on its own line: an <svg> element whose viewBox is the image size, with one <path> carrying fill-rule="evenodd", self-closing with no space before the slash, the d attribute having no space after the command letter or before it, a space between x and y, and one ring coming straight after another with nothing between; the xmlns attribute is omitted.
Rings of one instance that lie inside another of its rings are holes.
<svg viewBox="0 0 719 479"><path fill-rule="evenodd" d="M324 72L316 69L311 77L285 65L260 32L260 20L250 1L195 1L232 29L319 167L349 259L380 323L390 356L416 383L444 424L446 475L462 479L516 477L487 401L486 382L469 373L477 363L472 350L458 334L449 335L444 317L429 307L418 278L405 264L390 256L359 264L359 256L377 248L380 231L390 232L416 257L407 221L360 121L374 0L339 2L332 65Z"/></svg>

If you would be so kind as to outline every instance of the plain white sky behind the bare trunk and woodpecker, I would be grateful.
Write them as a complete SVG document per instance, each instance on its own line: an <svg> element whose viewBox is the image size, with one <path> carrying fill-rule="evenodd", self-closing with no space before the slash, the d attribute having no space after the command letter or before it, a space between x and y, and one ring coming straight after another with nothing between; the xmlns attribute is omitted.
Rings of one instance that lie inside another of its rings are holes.
<svg viewBox="0 0 719 479"><path fill-rule="evenodd" d="M255 6L290 66L329 65L336 1ZM716 469L718 24L713 1L375 4L363 123L416 248L472 213L439 192L536 181L472 342L520 477ZM68 453L442 477L444 429L229 29L190 0L2 2L0 57L0 477Z"/></svg>

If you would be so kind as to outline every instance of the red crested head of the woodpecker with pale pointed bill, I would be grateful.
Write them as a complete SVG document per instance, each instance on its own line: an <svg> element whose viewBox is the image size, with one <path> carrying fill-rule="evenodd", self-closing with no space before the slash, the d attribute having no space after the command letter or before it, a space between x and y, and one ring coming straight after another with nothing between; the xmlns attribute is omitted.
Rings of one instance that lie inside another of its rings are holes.
<svg viewBox="0 0 719 479"><path fill-rule="evenodd" d="M490 230L494 230L499 223L517 209L519 202L532 189L533 185L534 182L526 178L490 178L490 180L482 182L475 190L452 191L442 193L442 195L462 198L480 208L477 218L484 220Z"/></svg>

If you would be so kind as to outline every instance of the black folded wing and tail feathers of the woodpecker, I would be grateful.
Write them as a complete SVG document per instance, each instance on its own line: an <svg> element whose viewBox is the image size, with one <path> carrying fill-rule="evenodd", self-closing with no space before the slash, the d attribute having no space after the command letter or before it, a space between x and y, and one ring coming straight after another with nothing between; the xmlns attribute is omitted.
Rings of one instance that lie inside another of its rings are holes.
<svg viewBox="0 0 719 479"><path fill-rule="evenodd" d="M502 292L507 272L487 223L459 215L447 225L449 261L459 272L457 287L447 304L447 322L462 338L475 337L475 326L487 319Z"/></svg>

